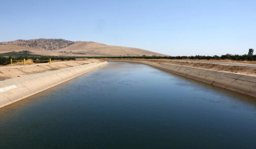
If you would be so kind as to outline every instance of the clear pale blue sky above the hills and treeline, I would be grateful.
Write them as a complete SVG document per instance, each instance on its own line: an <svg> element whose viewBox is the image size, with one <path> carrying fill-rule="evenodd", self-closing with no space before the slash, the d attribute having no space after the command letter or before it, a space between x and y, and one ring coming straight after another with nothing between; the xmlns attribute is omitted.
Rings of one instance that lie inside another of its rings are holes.
<svg viewBox="0 0 256 149"><path fill-rule="evenodd" d="M0 42L65 39L171 56L247 54L256 0L0 0Z"/></svg>

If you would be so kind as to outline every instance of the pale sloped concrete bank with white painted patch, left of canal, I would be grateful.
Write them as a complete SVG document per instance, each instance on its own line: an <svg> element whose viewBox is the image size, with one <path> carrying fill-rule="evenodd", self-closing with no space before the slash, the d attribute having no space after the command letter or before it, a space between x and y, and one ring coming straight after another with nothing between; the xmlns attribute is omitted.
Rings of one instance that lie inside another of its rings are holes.
<svg viewBox="0 0 256 149"><path fill-rule="evenodd" d="M91 63L0 81L0 108L108 64Z"/></svg>

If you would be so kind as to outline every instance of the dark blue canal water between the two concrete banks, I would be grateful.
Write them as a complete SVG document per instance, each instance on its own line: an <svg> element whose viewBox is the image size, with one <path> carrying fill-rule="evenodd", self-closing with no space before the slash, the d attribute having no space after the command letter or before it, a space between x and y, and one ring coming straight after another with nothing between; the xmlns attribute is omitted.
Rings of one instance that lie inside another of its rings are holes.
<svg viewBox="0 0 256 149"><path fill-rule="evenodd" d="M256 148L256 99L109 62L1 108L0 148Z"/></svg>

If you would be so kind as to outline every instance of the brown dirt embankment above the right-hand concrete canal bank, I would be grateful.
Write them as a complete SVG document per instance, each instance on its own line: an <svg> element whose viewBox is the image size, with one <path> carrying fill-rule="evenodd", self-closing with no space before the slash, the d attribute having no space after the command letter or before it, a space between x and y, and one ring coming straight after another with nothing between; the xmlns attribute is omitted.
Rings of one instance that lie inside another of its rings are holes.
<svg viewBox="0 0 256 149"><path fill-rule="evenodd" d="M175 60L146 60L146 59L104 59L108 60L135 60L135 61L148 61L152 63L167 63L167 64L174 64L174 65L181 65L193 68L201 68L201 69L208 69L212 71L221 71L221 72L229 72L229 73L236 73L241 75L247 76L254 76L256 77L256 67L253 66L240 66L240 65L225 65L225 64L211 64L211 63L203 63L203 62L190 62L190 61L175 61Z"/></svg>

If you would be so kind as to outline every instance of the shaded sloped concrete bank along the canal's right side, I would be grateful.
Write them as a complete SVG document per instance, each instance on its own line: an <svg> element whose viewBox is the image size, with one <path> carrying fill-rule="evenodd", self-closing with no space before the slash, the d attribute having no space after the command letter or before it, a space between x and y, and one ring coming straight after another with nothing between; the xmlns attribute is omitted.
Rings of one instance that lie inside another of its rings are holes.
<svg viewBox="0 0 256 149"><path fill-rule="evenodd" d="M107 59L106 59L107 60ZM136 60L107 60L107 61L123 61L123 62L135 62L149 65L158 69L162 69L168 72L175 73L177 75L192 78L198 81L206 82L221 88L233 90L239 93L244 93L249 96L256 97L256 77L238 75L234 73L211 71L200 68L192 68L186 66L179 66L166 63L151 63L147 61Z"/></svg>

